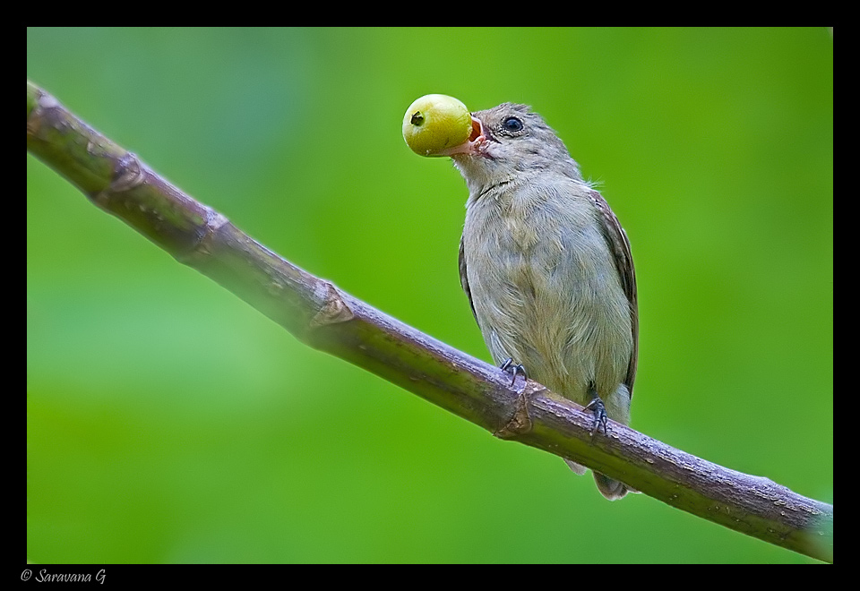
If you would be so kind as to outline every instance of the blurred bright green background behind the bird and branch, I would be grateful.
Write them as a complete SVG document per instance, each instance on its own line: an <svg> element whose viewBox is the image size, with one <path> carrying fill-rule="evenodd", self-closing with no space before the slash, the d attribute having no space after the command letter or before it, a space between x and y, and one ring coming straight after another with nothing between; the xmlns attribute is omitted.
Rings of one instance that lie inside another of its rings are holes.
<svg viewBox="0 0 860 591"><path fill-rule="evenodd" d="M624 223L632 426L832 501L830 30L30 29L28 77L236 226L489 360L414 99L532 105ZM27 158L36 562L804 562L610 503L178 264Z"/></svg>

